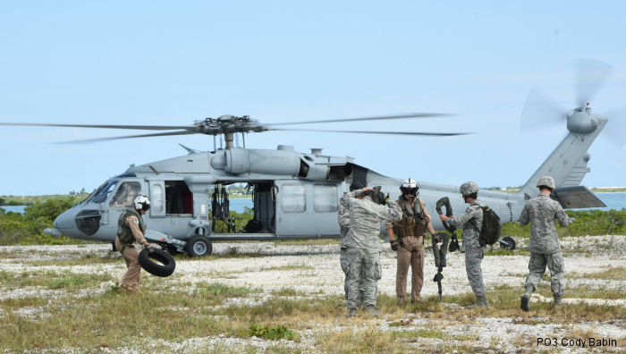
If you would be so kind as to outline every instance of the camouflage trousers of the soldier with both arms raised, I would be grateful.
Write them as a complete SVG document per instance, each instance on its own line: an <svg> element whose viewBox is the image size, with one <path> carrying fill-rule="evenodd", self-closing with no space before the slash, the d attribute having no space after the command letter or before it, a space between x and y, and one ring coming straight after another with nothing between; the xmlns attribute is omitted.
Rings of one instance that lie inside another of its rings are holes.
<svg viewBox="0 0 626 354"><path fill-rule="evenodd" d="M348 248L348 308L359 308L360 283L363 303L376 306L376 285L382 275L380 250Z"/></svg>

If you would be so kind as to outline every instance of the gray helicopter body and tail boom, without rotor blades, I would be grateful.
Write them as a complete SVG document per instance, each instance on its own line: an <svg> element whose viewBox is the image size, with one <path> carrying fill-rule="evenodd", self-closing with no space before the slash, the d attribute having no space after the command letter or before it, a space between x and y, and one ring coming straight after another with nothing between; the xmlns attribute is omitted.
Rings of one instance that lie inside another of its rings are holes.
<svg viewBox="0 0 626 354"><path fill-rule="evenodd" d="M503 223L518 220L526 201L537 195L536 183L542 175L553 176L557 187L563 186L554 190L553 198L564 208L604 206L579 183L589 172L588 147L607 121L587 112L573 114L571 119L570 133L518 193L479 191L478 199L495 210ZM89 198L57 217L55 228L47 233L113 241L118 218L137 195L143 194L152 203L144 215L148 224L146 237L179 250L194 236L209 240L333 238L339 236L339 201L352 181L379 185L393 200L399 197L402 182L354 164L351 157L322 155L321 149L311 149L310 154L295 152L289 146L278 146L276 150L234 147L190 153L131 165L125 173L106 181ZM218 206L214 198L216 187L233 183L248 183L254 189L252 212L258 228L252 232L213 230L214 209ZM419 182L419 198L424 200L438 230L444 226L436 217L435 207L443 197L450 199L455 215L467 207L458 187ZM385 232L382 224L381 231Z"/></svg>

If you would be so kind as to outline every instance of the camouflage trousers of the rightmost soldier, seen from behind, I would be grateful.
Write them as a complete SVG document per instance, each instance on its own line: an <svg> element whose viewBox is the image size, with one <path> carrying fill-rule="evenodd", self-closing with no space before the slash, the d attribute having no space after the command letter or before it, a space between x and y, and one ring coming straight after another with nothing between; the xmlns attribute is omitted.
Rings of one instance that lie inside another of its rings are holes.
<svg viewBox="0 0 626 354"><path fill-rule="evenodd" d="M550 270L550 289L552 293L556 296L563 296L563 290L565 289L563 275L565 263L560 250L551 254L530 253L529 276L526 278L526 286L531 285L533 290L536 291L541 278L546 273L546 266Z"/></svg>

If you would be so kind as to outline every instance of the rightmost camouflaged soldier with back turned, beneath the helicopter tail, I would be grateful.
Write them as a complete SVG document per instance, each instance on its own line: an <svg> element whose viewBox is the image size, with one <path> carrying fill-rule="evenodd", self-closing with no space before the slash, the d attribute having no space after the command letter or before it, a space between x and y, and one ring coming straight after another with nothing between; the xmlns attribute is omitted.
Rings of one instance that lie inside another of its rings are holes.
<svg viewBox="0 0 626 354"><path fill-rule="evenodd" d="M529 311L530 294L537 290L541 278L546 273L546 266L550 270L550 288L554 294L554 307L559 306L563 299L563 254L561 242L556 233L554 220L567 227L570 219L565 215L561 205L550 198L554 190L554 179L543 176L537 182L540 193L530 199L524 210L521 211L520 224L530 226L530 262L529 276L526 278L526 292L521 297L521 309Z"/></svg>

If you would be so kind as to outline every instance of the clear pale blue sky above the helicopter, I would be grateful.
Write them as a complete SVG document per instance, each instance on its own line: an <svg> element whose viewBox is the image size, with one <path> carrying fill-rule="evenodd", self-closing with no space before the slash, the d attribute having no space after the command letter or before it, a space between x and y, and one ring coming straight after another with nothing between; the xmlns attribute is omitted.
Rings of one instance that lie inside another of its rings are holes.
<svg viewBox="0 0 626 354"><path fill-rule="evenodd" d="M0 122L190 124L248 114L297 122L379 114L455 117L302 126L475 131L456 138L265 132L248 147L352 156L379 173L479 186L525 182L566 133L521 134L533 87L574 108L575 61L613 65L591 102L626 120L624 5L529 2L0 3ZM210 136L59 145L136 131L0 127L0 194L92 190L129 164L211 150ZM140 132L140 131L137 131ZM626 147L589 149L588 186L626 185ZM626 133L626 131L625 131ZM626 134L625 134L626 135Z"/></svg>

